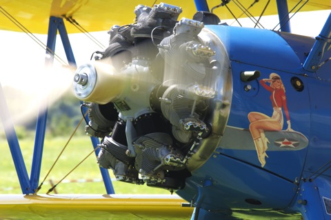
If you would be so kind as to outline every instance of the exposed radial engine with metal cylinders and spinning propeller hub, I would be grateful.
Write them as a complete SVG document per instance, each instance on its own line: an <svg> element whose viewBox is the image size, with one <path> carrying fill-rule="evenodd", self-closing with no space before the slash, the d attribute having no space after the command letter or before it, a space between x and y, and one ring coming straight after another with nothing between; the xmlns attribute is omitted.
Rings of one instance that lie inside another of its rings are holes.
<svg viewBox="0 0 331 220"><path fill-rule="evenodd" d="M74 76L86 132L100 137L99 166L119 181L168 190L217 148L230 114L230 61L201 21L165 3L137 6L136 23L112 26L101 59Z"/></svg>

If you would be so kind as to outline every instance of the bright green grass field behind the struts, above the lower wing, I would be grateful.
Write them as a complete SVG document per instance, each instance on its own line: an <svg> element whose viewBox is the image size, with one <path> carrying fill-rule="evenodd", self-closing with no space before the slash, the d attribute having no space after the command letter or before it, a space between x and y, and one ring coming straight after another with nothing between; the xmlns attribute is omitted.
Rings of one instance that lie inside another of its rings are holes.
<svg viewBox="0 0 331 220"><path fill-rule="evenodd" d="M43 149L43 161L41 163L41 175L39 183L46 177L46 174L52 167L52 164L57 159L59 153L65 146L68 137L47 137L44 143ZM34 147L34 137L27 137L19 140L23 158L26 163L28 174L30 175L30 168L32 163L32 154ZM10 154L10 148L7 140L0 139L0 194L18 193L21 194L21 187L19 186L19 180L14 168L14 163ZM57 183L63 177L72 170L77 164L83 160L90 152L92 152L92 143L90 137L81 136L73 137L66 150L59 158L59 161L55 164L54 168L48 175L46 181L43 183L43 187L39 191L40 194L48 192L52 187L50 181ZM114 179L112 170L109 170L110 177ZM99 179L96 182L87 183L66 183L68 181L76 181L81 179ZM118 194L169 194L167 190L158 188L150 188L148 186L137 186L130 183L122 183L116 180L112 180L115 193ZM95 154L91 154L86 161L74 170L72 173L63 180L63 183L59 183L57 193L61 194L106 194L106 189L103 185L102 177L100 174L99 166Z"/></svg>

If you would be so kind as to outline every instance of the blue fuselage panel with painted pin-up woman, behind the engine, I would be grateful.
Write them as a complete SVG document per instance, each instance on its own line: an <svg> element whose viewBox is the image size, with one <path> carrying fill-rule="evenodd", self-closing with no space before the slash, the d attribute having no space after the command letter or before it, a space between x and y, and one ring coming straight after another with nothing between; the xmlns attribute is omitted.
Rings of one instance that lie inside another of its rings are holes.
<svg viewBox="0 0 331 220"><path fill-rule="evenodd" d="M207 28L221 39L230 59L230 116L216 152L177 193L205 210L224 214L236 208L297 212L303 179L330 160L330 64L316 72L303 70L314 44L311 37L230 26ZM241 80L241 72L254 70L261 72L259 78ZM283 83L284 94L278 98L266 89L272 73ZM268 117L259 130L270 142L263 167L254 147L257 137L252 134L250 112ZM269 118L277 119L279 127L270 126ZM326 170L319 178L328 182L330 174Z"/></svg>

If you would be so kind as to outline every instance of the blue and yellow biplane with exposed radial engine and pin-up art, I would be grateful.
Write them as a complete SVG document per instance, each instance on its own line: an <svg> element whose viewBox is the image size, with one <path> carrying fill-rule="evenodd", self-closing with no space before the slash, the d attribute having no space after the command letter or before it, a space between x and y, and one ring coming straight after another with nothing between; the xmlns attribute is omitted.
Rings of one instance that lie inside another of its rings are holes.
<svg viewBox="0 0 331 220"><path fill-rule="evenodd" d="M330 9L323 0L0 1L2 30L48 34L47 65L59 32L76 66L68 34L77 29L66 23L110 35L72 74L107 194L38 194L47 111L29 176L0 90L22 190L0 196L0 218L331 219L331 14L315 38L290 26L299 11ZM270 14L279 25L266 30ZM222 22L240 17L254 28ZM114 194L108 169L177 195Z"/></svg>

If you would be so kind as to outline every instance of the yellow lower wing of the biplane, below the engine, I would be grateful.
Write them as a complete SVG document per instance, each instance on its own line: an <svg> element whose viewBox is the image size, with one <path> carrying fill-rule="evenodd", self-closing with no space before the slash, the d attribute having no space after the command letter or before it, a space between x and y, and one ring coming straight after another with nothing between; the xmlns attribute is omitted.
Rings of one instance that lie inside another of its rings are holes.
<svg viewBox="0 0 331 220"><path fill-rule="evenodd" d="M0 195L0 219L190 219L176 195Z"/></svg>

